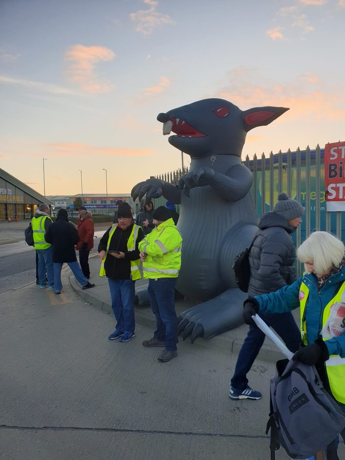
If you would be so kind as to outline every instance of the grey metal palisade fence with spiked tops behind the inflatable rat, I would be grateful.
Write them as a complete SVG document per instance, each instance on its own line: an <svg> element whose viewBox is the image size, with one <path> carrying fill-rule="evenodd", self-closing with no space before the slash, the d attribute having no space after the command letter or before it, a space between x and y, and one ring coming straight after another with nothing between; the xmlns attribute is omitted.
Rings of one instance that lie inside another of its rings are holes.
<svg viewBox="0 0 345 460"><path fill-rule="evenodd" d="M253 160L247 155L242 163L253 174L251 193L259 217L273 210L281 192L287 193L304 206L302 224L293 233L297 247L316 230L329 231L345 240L345 213L326 211L324 149L319 145L315 150L310 150L308 146L305 150L297 148L294 152L288 149L288 152L271 152L268 156L263 153L261 158L255 154ZM158 177L176 184L187 172L188 170L177 170ZM165 203L163 197L159 198L155 200L155 207ZM178 206L176 209L178 211ZM297 276L302 270L303 267L297 264Z"/></svg>

